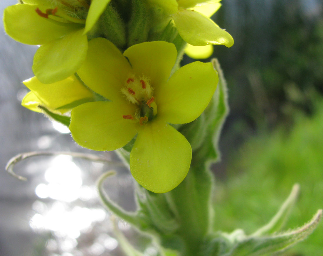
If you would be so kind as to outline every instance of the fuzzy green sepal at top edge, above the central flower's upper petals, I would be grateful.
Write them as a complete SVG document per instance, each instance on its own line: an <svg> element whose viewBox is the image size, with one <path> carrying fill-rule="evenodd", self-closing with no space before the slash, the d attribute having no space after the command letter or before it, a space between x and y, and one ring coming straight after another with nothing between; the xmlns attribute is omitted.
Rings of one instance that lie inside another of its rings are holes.
<svg viewBox="0 0 323 256"><path fill-rule="evenodd" d="M150 14L146 1L131 1L131 17L128 23L128 47L148 39Z"/></svg>

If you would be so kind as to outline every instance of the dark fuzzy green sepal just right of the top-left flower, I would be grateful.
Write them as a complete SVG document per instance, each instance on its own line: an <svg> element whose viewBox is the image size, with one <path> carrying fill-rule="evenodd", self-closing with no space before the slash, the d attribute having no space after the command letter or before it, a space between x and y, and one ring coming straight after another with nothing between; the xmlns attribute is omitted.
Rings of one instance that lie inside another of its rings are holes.
<svg viewBox="0 0 323 256"><path fill-rule="evenodd" d="M116 9L109 3L99 19L99 32L118 48L126 46L126 27Z"/></svg>

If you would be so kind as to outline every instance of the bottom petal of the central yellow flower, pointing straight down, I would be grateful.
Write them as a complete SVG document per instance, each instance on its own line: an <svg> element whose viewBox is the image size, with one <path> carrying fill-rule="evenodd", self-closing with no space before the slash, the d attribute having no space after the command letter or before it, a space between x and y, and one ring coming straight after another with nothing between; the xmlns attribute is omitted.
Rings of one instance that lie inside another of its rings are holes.
<svg viewBox="0 0 323 256"><path fill-rule="evenodd" d="M131 150L130 171L144 188L164 193L182 182L191 159L191 145L181 133L166 123L148 122Z"/></svg>

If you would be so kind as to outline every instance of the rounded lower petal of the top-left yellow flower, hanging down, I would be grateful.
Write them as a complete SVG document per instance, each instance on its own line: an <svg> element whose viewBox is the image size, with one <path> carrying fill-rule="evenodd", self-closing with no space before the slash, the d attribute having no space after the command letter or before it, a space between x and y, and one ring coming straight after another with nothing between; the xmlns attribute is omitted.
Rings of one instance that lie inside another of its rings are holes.
<svg viewBox="0 0 323 256"><path fill-rule="evenodd" d="M85 61L87 51L88 39L83 30L53 40L36 51L34 74L44 84L61 81L78 70Z"/></svg>

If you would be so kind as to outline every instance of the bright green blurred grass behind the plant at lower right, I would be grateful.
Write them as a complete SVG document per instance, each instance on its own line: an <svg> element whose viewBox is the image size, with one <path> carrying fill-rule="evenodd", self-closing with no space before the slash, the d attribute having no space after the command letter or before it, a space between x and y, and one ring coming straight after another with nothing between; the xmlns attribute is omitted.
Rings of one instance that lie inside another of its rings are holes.
<svg viewBox="0 0 323 256"><path fill-rule="evenodd" d="M270 221L294 183L300 184L300 198L284 229L304 224L323 208L321 96L312 102L312 117L298 111L292 127L255 137L232 155L227 180L216 182L216 228L242 228L251 234ZM322 227L320 223L307 240L285 254L322 255Z"/></svg>

